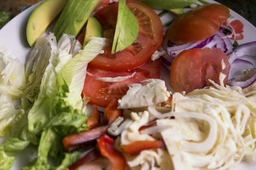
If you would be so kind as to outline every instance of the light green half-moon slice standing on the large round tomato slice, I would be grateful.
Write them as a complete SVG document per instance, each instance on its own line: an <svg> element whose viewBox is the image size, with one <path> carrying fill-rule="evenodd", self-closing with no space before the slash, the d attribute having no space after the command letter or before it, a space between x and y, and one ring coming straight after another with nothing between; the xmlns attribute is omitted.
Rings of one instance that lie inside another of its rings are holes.
<svg viewBox="0 0 256 170"><path fill-rule="evenodd" d="M114 41L111 53L119 52L132 45L137 40L139 24L134 13L125 5L125 0L119 0L117 25L114 31Z"/></svg>

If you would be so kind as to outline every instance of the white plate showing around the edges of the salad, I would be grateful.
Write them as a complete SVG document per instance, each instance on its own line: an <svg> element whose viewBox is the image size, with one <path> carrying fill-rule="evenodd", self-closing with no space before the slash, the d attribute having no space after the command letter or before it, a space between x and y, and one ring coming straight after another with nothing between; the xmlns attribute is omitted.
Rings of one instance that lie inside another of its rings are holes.
<svg viewBox="0 0 256 170"><path fill-rule="evenodd" d="M208 1L211 3L217 3L212 0ZM6 47L9 50L9 52L11 52L12 55L18 57L18 59L21 60L23 64L25 64L26 58L28 57L28 53L31 50L26 41L26 22L28 20L28 16L33 11L33 8L35 8L36 6L38 6L38 4L26 9L18 16L13 18L9 23L6 24L6 26L4 26L4 28L1 28L0 30L0 47ZM245 42L255 41L256 28L252 26L251 23L246 21L245 18L242 18L242 16L240 16L238 13L235 13L234 11L230 10L230 14L231 21L239 20L244 25L242 33L244 38L242 40L238 40L238 43L242 44ZM29 154L29 152L25 151L23 152L23 154ZM26 162L26 160L23 160L23 158L20 157L16 161L16 164L14 164L13 169L20 169L20 167L26 164ZM249 164L242 162L242 164L240 164L236 169L256 169L256 163Z"/></svg>

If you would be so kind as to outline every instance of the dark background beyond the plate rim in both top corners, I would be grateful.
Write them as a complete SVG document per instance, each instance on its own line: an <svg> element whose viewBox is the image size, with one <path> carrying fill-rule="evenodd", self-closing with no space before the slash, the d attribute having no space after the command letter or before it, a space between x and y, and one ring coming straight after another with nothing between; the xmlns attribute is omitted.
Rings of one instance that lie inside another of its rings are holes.
<svg viewBox="0 0 256 170"><path fill-rule="evenodd" d="M8 11L11 17L24 8L41 0L0 0L0 11ZM215 0L233 9L256 26L256 0Z"/></svg>

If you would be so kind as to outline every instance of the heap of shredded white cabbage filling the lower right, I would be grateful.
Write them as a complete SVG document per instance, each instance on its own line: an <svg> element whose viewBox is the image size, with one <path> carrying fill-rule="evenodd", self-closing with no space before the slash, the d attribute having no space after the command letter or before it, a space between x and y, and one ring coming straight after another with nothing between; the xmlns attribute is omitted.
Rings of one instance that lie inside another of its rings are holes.
<svg viewBox="0 0 256 170"><path fill-rule="evenodd" d="M147 94L154 95L154 90L152 86L131 86L119 101L120 106L131 110L132 99L141 105L134 106L137 109L132 109L128 116L132 123L122 130L120 145L160 138L166 149L125 154L130 168L233 169L243 159L256 161L256 83L241 89L210 82L212 87L197 89L186 96L174 93L171 108L150 103L142 109L146 104L138 101L154 97L141 99L139 93L150 91ZM152 121L156 125L139 131Z"/></svg>

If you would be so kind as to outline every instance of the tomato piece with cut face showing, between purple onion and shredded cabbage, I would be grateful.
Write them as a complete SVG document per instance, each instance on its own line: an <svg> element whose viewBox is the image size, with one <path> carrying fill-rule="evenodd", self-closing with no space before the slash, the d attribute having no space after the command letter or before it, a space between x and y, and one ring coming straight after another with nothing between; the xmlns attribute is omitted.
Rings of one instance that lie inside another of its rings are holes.
<svg viewBox="0 0 256 170"><path fill-rule="evenodd" d="M174 91L188 93L210 86L208 79L220 84L220 72L227 75L226 84L229 71L228 56L219 48L184 50L171 64L171 84Z"/></svg>

